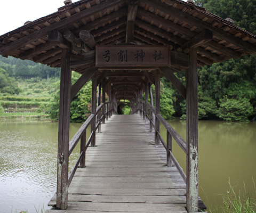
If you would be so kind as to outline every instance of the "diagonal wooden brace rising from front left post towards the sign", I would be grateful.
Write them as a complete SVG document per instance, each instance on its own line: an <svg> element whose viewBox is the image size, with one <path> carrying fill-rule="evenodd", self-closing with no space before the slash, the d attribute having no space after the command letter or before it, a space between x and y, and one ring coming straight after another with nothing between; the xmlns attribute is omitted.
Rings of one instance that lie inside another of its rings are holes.
<svg viewBox="0 0 256 213"><path fill-rule="evenodd" d="M80 91L80 89L91 79L95 72L97 72L97 68L91 66L85 70L83 75L76 81L76 83L71 87L71 100L74 99L76 94Z"/></svg>

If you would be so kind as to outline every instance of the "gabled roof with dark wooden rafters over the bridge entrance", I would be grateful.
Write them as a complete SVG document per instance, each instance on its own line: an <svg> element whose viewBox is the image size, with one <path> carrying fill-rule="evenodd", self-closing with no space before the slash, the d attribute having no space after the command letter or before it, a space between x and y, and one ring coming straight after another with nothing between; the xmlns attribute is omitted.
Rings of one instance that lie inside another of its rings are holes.
<svg viewBox="0 0 256 213"><path fill-rule="evenodd" d="M69 45L63 34L71 32L79 40L82 30L89 31L98 45L168 45L177 59L170 66L173 72L187 69L189 47L193 45L198 47L199 66L256 53L255 35L191 1L82 0L0 36L0 54L60 67L61 48ZM52 40L51 35L56 31L58 39ZM212 39L207 40L211 33ZM95 50L83 42L73 45L71 68L83 73L93 65ZM122 79L119 76L120 84L129 78L131 85L132 81L143 82L145 74L153 80L155 69L129 70ZM142 70L143 75L138 70ZM100 69L99 76L102 71ZM108 69L105 73L118 77L120 69Z"/></svg>

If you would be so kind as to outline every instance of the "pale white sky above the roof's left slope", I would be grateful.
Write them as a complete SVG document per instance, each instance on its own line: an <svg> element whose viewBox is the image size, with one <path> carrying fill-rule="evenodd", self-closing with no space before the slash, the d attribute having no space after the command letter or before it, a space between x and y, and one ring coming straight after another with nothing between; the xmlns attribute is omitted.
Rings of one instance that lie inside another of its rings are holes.
<svg viewBox="0 0 256 213"><path fill-rule="evenodd" d="M0 0L0 35L57 12L64 0ZM73 0L72 2L77 2Z"/></svg>

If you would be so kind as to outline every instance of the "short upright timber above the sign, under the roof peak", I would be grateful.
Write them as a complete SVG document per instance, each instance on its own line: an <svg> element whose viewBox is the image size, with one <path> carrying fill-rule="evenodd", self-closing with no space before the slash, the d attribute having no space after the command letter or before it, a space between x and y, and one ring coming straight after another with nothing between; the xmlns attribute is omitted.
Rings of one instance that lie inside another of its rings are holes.
<svg viewBox="0 0 256 213"><path fill-rule="evenodd" d="M138 0L129 0L126 24L126 43L133 42L134 22L137 15L138 4Z"/></svg>

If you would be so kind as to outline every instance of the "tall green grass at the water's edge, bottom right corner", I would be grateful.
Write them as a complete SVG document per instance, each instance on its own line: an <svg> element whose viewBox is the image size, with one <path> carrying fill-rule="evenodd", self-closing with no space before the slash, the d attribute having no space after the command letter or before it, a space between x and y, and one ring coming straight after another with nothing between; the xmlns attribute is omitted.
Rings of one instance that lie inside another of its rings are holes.
<svg viewBox="0 0 256 213"><path fill-rule="evenodd" d="M246 191L244 184L244 192L239 191L236 193L234 186L228 181L229 190L227 194L221 194L222 205L209 207L209 212L211 213L255 213L256 212L256 187L254 180L252 178L254 185L254 193Z"/></svg>

